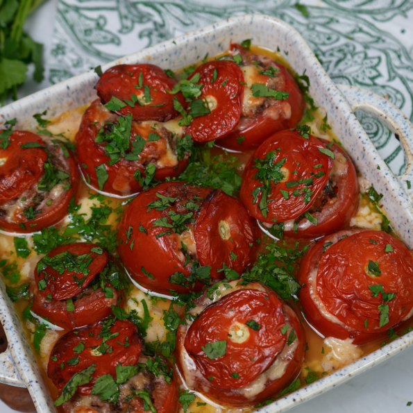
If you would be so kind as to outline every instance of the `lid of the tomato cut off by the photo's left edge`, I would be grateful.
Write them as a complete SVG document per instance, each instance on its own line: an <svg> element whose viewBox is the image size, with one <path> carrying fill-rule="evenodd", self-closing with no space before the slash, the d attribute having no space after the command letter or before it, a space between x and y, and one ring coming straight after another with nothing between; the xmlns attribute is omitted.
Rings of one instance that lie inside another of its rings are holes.
<svg viewBox="0 0 413 413"><path fill-rule="evenodd" d="M3 161L0 166L0 203L15 199L34 187L44 173L43 165L47 160L47 152L42 149L44 142L34 133L17 130L9 139L8 147L0 149Z"/></svg>

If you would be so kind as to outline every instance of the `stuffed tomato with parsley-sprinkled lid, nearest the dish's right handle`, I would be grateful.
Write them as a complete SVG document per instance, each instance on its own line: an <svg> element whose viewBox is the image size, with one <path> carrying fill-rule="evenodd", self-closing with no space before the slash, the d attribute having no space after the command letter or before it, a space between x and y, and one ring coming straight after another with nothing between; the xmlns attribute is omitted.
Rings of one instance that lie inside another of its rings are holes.
<svg viewBox="0 0 413 413"><path fill-rule="evenodd" d="M269 137L248 161L241 201L278 238L314 239L346 226L357 210L353 162L310 128Z"/></svg>

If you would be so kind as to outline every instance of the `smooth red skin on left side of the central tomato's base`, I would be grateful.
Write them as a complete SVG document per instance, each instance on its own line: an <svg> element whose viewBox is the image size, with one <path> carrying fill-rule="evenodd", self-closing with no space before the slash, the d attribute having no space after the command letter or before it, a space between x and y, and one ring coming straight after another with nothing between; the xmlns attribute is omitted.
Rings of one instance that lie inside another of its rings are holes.
<svg viewBox="0 0 413 413"><path fill-rule="evenodd" d="M170 196L168 189L173 186L178 189L183 188L183 183L162 183L139 194L126 208L119 223L117 235L119 255L130 276L144 287L162 294L169 294L169 289L174 289L180 294L189 291L186 287L169 283L168 278L176 271L183 273L185 276L189 276L190 271L183 267L183 262L178 259L167 236L158 239L155 237L168 229L163 227L152 228L153 221L162 217L162 212L156 211L155 208L146 212L147 205L158 199L155 196L157 192ZM193 189L193 191L196 196L205 198L211 189L198 188ZM148 235L138 229L140 225L146 228ZM126 233L130 226L133 226L133 235L128 240L126 239ZM126 244L126 241L128 241L128 244ZM131 249L132 242L134 244ZM162 262L162 265L160 265L160 262ZM153 280L143 273L142 267L152 274ZM199 291L202 286L197 283L194 291Z"/></svg>

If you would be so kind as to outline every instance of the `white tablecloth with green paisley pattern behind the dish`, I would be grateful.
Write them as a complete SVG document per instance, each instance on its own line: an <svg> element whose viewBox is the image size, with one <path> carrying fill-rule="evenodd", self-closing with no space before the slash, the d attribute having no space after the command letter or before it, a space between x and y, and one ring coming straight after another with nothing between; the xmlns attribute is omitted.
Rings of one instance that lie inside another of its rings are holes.
<svg viewBox="0 0 413 413"><path fill-rule="evenodd" d="M385 96L413 120L413 0L60 0L49 80L246 13L285 20L333 81ZM357 117L401 174L404 154L390 130L364 112Z"/></svg>

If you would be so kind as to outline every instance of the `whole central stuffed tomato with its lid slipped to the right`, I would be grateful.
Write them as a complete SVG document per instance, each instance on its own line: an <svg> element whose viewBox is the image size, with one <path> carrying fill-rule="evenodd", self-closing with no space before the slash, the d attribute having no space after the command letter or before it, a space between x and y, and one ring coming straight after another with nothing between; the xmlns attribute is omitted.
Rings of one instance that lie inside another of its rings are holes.
<svg viewBox="0 0 413 413"><path fill-rule="evenodd" d="M242 273L255 261L259 236L237 199L180 182L139 194L118 230L119 255L130 276L163 294L199 290L228 271Z"/></svg>

